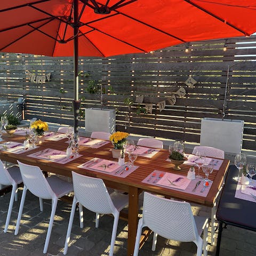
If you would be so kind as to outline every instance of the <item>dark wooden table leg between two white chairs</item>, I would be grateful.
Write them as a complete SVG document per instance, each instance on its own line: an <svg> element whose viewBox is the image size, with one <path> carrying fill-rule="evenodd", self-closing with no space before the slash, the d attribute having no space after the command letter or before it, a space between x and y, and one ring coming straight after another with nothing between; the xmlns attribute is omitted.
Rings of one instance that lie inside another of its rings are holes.
<svg viewBox="0 0 256 256"><path fill-rule="evenodd" d="M128 210L128 241L127 256L133 255L135 238L138 227L139 193L138 188L129 188L129 210Z"/></svg>

